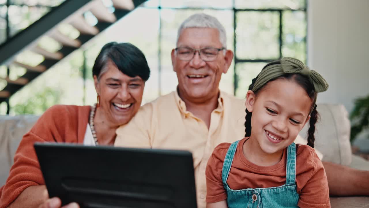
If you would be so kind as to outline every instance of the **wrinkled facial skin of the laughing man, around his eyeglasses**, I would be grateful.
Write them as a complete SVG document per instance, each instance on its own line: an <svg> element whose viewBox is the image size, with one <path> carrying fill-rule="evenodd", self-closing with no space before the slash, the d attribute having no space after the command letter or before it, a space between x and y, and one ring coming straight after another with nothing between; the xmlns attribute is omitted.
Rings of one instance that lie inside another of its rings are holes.
<svg viewBox="0 0 369 208"><path fill-rule="evenodd" d="M180 33L177 47L222 48L219 32L215 28L184 28ZM219 82L222 73L227 73L231 65L233 52L219 51L214 61L201 60L199 53L190 61L182 61L172 50L173 70L177 73L178 90L183 100L201 103L219 94Z"/></svg>

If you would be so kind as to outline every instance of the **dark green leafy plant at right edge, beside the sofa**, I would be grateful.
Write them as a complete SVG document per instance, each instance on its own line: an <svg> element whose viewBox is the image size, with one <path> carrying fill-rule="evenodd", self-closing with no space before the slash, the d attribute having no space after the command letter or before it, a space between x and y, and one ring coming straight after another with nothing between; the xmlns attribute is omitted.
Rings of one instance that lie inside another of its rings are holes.
<svg viewBox="0 0 369 208"><path fill-rule="evenodd" d="M354 108L350 114L351 135L350 141L353 142L356 136L369 127L369 95L355 100Z"/></svg>

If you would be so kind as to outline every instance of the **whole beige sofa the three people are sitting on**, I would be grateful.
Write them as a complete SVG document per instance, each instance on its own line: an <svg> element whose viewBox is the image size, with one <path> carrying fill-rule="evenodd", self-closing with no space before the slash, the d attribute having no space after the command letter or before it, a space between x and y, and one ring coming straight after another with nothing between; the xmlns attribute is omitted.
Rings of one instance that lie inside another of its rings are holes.
<svg viewBox="0 0 369 208"><path fill-rule="evenodd" d="M369 161L352 154L350 122L345 107L318 104L317 110L321 118L316 124L315 148L323 154L323 161L369 171ZM36 115L0 116L0 186L6 182L22 136L37 119ZM302 137L306 138L307 129L308 125L300 132ZM330 200L333 208L369 207L369 197L331 197Z"/></svg>

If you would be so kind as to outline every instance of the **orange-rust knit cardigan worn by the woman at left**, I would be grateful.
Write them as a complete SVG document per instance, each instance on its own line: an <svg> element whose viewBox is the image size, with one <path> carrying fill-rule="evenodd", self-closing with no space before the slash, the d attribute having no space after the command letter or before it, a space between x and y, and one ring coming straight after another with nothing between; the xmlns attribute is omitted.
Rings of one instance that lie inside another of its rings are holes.
<svg viewBox="0 0 369 208"><path fill-rule="evenodd" d="M6 184L0 188L0 208L10 205L32 185L45 185L33 144L35 142L83 143L90 106L54 105L25 134L14 156Z"/></svg>

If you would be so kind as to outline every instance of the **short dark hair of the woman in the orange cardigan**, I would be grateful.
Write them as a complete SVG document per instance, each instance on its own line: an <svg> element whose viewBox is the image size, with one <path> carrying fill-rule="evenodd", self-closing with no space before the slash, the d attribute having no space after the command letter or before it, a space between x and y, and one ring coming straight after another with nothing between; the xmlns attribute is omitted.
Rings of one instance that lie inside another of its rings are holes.
<svg viewBox="0 0 369 208"><path fill-rule="evenodd" d="M130 43L110 42L105 44L97 55L92 68L92 75L99 79L101 70L111 60L118 69L130 77L139 76L142 80L148 80L150 68L145 55L136 46Z"/></svg>

